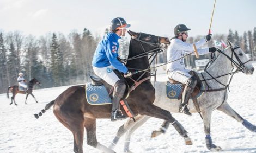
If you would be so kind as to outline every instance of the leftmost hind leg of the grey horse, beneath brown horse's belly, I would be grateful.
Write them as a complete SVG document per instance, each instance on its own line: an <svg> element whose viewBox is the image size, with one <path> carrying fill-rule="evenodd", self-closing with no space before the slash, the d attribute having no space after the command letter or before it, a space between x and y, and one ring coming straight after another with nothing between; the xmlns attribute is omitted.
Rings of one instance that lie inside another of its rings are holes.
<svg viewBox="0 0 256 153"><path fill-rule="evenodd" d="M112 143L108 146L108 148L110 149L114 149L115 145L117 145L119 139L124 135L124 133L126 131L128 131L129 129L131 129L131 127L133 127L134 125L136 125L138 122L140 122L141 119L143 119L145 116L142 115L137 115L135 116L135 120L136 122L134 122L132 119L127 119L126 122L119 127L117 134L115 135Z"/></svg>

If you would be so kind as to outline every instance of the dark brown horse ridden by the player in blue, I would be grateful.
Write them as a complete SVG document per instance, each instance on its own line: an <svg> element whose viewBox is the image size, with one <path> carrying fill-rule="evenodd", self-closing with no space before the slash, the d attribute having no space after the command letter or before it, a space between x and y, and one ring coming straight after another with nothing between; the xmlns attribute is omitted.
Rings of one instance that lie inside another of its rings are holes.
<svg viewBox="0 0 256 153"><path fill-rule="evenodd" d="M135 69L142 70L150 67L148 55L166 49L170 44L166 37L159 37L144 33L134 33L129 31L132 36L129 47L129 56L126 66L133 72ZM139 57L139 58L138 58ZM151 56L152 57L152 56ZM131 60L132 59L132 60ZM143 75L142 75L143 74ZM130 92L127 102L134 114L143 114L156 117L172 123L180 135L185 136L186 130L172 117L170 112L160 109L153 105L155 100L155 89L150 82L151 75L148 72L139 72L132 75L134 80L143 80L134 91ZM131 87L134 82L126 78ZM49 109L52 105L53 112L57 119L67 127L74 136L74 152L83 152L84 127L87 132L87 144L103 152L114 152L112 149L97 142L96 138L96 119L110 118L112 105L90 105L85 95L85 85L72 86L60 94L55 100L48 103L42 112ZM122 108L121 110L125 112ZM38 118L38 115L35 114ZM109 119L110 121L110 119Z"/></svg>

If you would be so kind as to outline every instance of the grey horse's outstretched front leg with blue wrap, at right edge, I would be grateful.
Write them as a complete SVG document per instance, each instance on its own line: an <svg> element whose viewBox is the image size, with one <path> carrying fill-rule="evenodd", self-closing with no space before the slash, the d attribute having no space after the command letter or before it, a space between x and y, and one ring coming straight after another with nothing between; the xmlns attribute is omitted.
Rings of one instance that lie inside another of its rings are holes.
<svg viewBox="0 0 256 153"><path fill-rule="evenodd" d="M233 117L238 122L242 123L243 126L245 126L247 129L249 129L252 132L256 132L256 126L249 123L246 119L243 119L237 112L235 112L227 102L223 103L220 107L218 107L219 111L224 112L230 117Z"/></svg>

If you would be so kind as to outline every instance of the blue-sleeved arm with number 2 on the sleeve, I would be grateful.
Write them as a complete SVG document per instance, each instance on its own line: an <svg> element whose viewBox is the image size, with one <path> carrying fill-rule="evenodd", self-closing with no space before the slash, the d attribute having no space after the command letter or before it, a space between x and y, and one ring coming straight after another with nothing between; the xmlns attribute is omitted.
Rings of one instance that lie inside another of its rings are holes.
<svg viewBox="0 0 256 153"><path fill-rule="evenodd" d="M105 46L105 50L106 50L107 58L111 63L111 65L114 68L118 69L120 72L126 73L128 69L125 67L125 65L123 65L120 61L117 60L118 46L114 45L112 41L108 40Z"/></svg>

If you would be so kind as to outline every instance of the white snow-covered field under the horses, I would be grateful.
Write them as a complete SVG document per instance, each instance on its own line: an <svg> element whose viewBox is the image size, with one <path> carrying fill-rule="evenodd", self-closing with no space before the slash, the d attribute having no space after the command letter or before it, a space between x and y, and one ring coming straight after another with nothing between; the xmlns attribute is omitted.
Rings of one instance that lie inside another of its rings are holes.
<svg viewBox="0 0 256 153"><path fill-rule="evenodd" d="M256 68L256 63L253 63ZM159 80L165 76L158 75ZM33 114L44 109L45 105L55 99L68 86L34 90L39 101L35 103L29 96L25 105L25 95L17 94L18 106L9 105L6 94L0 94L0 152L73 152L73 136L54 116L52 108L39 119ZM256 74L235 74L230 85L228 103L243 118L256 124ZM133 152L210 152L205 145L203 120L198 113L192 116L172 113L173 116L189 132L193 145L184 144L184 139L172 126L165 135L150 139L151 131L160 127L162 120L151 118L141 126L132 137L130 149ZM119 126L125 121L111 122L110 119L97 120L97 140L108 146ZM221 146L222 152L256 152L256 133L247 130L222 112L214 111L211 120L211 136L214 144ZM115 148L123 152L124 138ZM86 143L84 136L84 152L99 152Z"/></svg>

